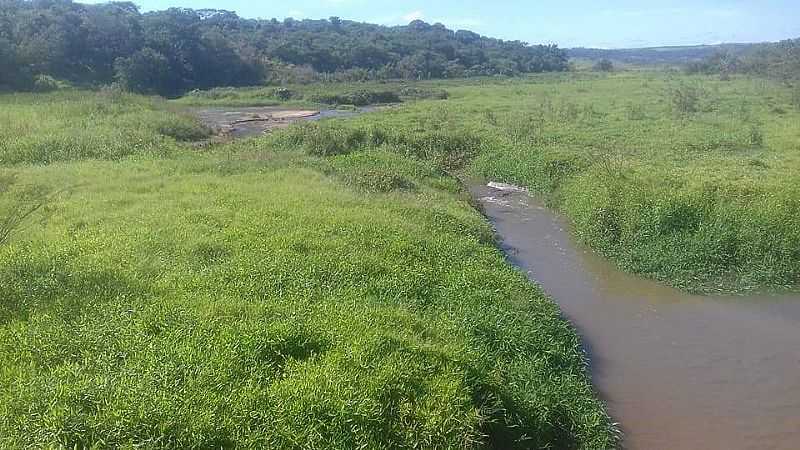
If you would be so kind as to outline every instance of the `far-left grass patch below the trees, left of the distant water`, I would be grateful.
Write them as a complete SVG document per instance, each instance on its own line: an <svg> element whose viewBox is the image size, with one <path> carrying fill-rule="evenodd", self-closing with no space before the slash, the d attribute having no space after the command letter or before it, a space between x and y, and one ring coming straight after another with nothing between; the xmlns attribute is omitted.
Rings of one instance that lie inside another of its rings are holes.
<svg viewBox="0 0 800 450"><path fill-rule="evenodd" d="M0 95L0 165L166 156L207 137L163 100L118 92Z"/></svg>

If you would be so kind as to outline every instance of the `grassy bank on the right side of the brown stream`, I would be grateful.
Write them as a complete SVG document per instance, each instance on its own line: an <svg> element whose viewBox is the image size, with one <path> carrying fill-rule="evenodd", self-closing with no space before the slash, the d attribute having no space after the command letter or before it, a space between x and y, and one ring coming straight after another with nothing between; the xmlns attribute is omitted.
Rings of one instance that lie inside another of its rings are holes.
<svg viewBox="0 0 800 450"><path fill-rule="evenodd" d="M664 73L453 83L296 138L527 186L626 270L701 292L800 285L800 110L768 81Z"/></svg>

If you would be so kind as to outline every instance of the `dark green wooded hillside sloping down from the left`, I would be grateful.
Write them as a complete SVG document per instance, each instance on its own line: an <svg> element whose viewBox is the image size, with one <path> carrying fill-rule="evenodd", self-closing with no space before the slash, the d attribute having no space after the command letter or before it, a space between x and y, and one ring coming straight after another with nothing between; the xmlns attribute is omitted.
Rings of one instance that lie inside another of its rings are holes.
<svg viewBox="0 0 800 450"><path fill-rule="evenodd" d="M0 87L117 83L165 96L192 89L335 78L431 79L567 70L555 45L414 21L244 19L223 10L141 13L130 2L0 0Z"/></svg>

